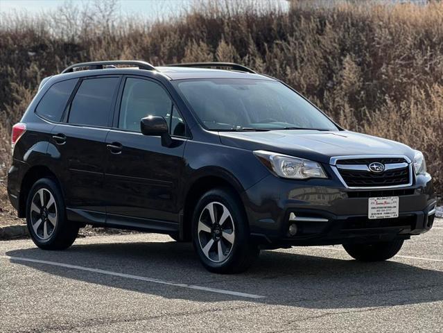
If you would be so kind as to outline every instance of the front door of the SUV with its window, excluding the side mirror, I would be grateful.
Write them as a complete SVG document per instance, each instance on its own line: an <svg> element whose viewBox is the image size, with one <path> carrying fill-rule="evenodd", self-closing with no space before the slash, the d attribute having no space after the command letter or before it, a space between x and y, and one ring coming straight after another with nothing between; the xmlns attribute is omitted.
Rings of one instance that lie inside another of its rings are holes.
<svg viewBox="0 0 443 333"><path fill-rule="evenodd" d="M177 195L183 172L185 126L171 96L154 80L125 78L115 129L107 135L107 223L177 230ZM142 135L141 118L168 121L173 144ZM171 130L171 128L173 128Z"/></svg>

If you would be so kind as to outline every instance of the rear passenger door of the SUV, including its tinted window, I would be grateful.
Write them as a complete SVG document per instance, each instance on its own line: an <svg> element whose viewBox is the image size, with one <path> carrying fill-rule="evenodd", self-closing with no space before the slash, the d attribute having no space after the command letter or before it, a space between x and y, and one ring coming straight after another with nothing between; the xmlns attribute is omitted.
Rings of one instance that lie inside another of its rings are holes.
<svg viewBox="0 0 443 333"><path fill-rule="evenodd" d="M84 216L97 219L97 223L105 222L105 139L120 80L119 77L82 79L67 106L66 123L59 123L52 130L53 146L60 153L69 219L81 221Z"/></svg>

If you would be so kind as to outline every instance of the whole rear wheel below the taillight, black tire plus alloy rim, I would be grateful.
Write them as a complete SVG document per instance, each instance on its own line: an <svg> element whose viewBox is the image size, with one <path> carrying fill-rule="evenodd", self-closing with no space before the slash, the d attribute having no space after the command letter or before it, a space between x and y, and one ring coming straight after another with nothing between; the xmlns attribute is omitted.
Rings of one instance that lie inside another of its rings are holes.
<svg viewBox="0 0 443 333"><path fill-rule="evenodd" d="M26 224L34 244L43 250L69 248L78 234L78 225L66 219L62 191L51 178L37 180L29 191Z"/></svg>

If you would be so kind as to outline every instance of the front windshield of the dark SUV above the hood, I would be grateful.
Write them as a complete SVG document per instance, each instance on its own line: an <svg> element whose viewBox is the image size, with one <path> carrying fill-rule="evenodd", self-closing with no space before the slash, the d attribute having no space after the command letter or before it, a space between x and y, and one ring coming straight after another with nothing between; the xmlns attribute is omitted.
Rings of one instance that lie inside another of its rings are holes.
<svg viewBox="0 0 443 333"><path fill-rule="evenodd" d="M338 130L311 103L277 81L205 78L177 82L209 130Z"/></svg>

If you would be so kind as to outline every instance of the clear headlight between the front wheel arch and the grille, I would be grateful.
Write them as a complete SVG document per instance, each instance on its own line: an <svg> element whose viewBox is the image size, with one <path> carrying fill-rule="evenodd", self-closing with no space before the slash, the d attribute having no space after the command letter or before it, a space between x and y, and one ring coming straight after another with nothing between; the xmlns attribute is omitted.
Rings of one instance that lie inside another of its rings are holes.
<svg viewBox="0 0 443 333"><path fill-rule="evenodd" d="M307 179L328 178L320 164L303 158L271 153L269 151L254 151L254 155L281 178Z"/></svg>

